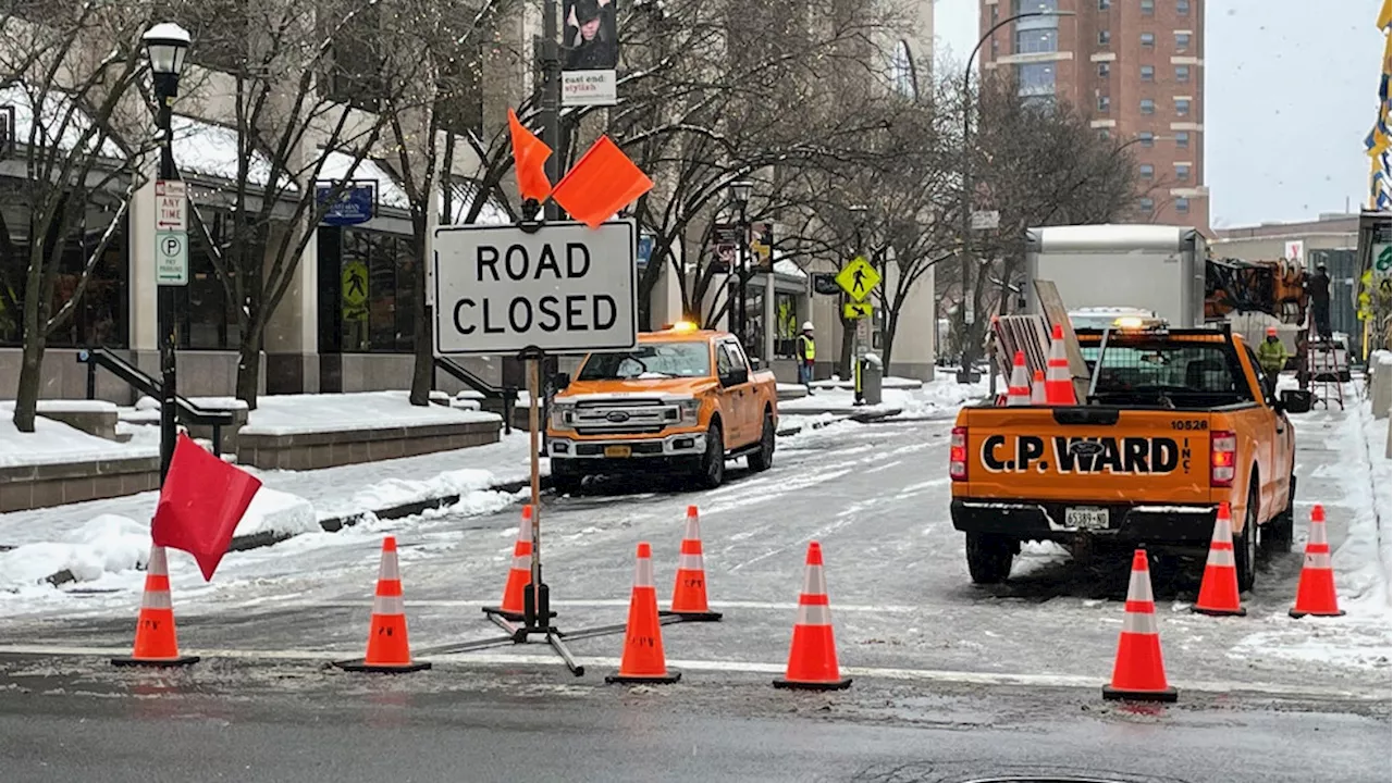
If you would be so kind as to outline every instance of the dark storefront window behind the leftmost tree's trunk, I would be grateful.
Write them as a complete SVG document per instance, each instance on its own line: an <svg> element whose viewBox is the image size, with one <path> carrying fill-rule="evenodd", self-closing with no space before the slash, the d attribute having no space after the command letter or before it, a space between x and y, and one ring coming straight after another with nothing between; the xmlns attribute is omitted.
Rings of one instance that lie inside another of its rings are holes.
<svg viewBox="0 0 1393 783"><path fill-rule="evenodd" d="M0 254L0 346L24 344L22 313L29 255L26 227L28 205L32 201L29 195L21 192L20 188L24 185L22 180L10 180L0 194L0 209L4 210L10 248L14 251L10 256ZM88 203L85 224L75 226L64 238L57 263L59 279L53 288L52 313L57 313L72 298L78 283L82 281L82 269L100 244L110 220L110 209ZM56 231L53 234L50 241L56 242ZM124 348L130 344L128 247L127 223L123 220L107 242L106 252L92 268L82 301L74 308L71 318L49 336L50 347ZM14 387L10 387L0 394L13 392Z"/></svg>

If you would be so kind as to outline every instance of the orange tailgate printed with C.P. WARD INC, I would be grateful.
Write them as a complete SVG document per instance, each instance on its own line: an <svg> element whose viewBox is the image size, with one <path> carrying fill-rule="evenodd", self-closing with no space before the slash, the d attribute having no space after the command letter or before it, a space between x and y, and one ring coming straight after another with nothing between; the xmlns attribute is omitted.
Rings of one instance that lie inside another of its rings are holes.
<svg viewBox="0 0 1393 783"><path fill-rule="evenodd" d="M965 492L993 500L1209 499L1206 411L964 408ZM963 488L963 483L958 483Z"/></svg>

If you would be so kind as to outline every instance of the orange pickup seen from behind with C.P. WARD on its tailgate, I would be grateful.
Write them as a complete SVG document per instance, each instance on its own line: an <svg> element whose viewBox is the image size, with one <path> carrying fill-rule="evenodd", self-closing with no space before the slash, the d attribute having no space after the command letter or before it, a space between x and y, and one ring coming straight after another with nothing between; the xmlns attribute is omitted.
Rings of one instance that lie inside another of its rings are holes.
<svg viewBox="0 0 1393 783"><path fill-rule="evenodd" d="M1199 553L1229 502L1250 589L1259 535L1290 546L1295 497L1294 432L1256 355L1229 329L1102 337L1078 332L1085 404L958 412L951 513L972 581L1004 581L1027 541L1075 556L1107 542Z"/></svg>

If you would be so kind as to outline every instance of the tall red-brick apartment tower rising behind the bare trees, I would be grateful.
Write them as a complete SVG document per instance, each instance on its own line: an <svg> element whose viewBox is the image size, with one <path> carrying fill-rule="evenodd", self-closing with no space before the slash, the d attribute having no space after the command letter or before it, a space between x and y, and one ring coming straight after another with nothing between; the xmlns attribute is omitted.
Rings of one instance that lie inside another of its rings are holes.
<svg viewBox="0 0 1393 783"><path fill-rule="evenodd" d="M1127 145L1145 191L1135 217L1209 230L1204 160L1205 0L981 0L983 74L1011 68L1021 95L1067 102Z"/></svg>

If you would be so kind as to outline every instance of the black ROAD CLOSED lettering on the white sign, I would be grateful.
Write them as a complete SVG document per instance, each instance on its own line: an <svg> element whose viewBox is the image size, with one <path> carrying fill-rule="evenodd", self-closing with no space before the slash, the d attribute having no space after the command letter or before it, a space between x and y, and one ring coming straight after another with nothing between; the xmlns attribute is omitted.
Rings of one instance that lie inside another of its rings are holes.
<svg viewBox="0 0 1393 783"><path fill-rule="evenodd" d="M589 248L579 242L547 244L535 256L518 244L481 245L474 258L475 280L481 284L552 280L563 290L566 281L584 279L591 265ZM603 332L618 319L618 305L609 294L460 297L451 312L460 334Z"/></svg>

